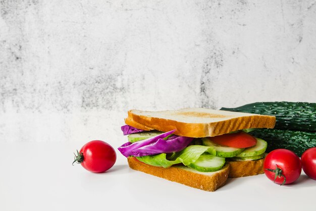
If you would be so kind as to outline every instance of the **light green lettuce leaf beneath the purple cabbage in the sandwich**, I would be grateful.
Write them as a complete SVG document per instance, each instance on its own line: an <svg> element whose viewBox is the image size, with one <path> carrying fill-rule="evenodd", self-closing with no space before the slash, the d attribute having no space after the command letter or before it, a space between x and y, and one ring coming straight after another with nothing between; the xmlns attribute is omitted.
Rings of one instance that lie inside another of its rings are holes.
<svg viewBox="0 0 316 211"><path fill-rule="evenodd" d="M151 166L164 168L168 168L172 165L180 163L188 166L191 163L194 163L200 157L200 155L205 152L216 155L216 150L212 146L190 145L176 153L161 153L155 155L140 156L136 157L136 159Z"/></svg>

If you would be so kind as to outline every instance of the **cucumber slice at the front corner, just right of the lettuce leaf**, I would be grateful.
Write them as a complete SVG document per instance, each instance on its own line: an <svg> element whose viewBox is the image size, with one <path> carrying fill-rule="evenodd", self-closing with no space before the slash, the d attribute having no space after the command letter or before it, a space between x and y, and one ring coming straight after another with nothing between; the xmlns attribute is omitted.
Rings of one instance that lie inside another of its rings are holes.
<svg viewBox="0 0 316 211"><path fill-rule="evenodd" d="M200 157L188 167L199 172L216 172L225 164L224 157L217 157L212 154L201 154Z"/></svg>

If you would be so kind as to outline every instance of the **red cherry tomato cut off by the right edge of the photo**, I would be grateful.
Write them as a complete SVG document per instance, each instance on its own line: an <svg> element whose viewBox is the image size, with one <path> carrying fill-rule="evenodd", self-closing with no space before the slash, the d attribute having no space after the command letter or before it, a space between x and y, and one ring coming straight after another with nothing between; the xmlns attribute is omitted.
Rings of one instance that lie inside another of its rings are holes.
<svg viewBox="0 0 316 211"><path fill-rule="evenodd" d="M316 147L312 147L303 152L301 156L302 168L305 174L316 180Z"/></svg>

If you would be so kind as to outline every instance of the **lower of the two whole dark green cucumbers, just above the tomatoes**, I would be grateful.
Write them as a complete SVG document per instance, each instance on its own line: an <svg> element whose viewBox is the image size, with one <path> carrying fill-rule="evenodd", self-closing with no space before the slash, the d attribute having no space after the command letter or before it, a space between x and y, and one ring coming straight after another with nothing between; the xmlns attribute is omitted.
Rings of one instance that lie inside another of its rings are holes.
<svg viewBox="0 0 316 211"><path fill-rule="evenodd" d="M306 149L316 146L315 132L257 129L249 134L268 142L266 152L283 148L292 150L298 156L301 156Z"/></svg>

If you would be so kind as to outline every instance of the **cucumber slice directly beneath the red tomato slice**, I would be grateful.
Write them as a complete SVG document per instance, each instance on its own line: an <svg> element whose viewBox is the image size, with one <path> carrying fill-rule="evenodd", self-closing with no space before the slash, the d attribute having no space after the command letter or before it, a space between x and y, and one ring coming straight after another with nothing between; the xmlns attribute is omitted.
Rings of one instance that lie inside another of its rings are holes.
<svg viewBox="0 0 316 211"><path fill-rule="evenodd" d="M213 146L216 150L216 156L218 157L234 157L244 150L244 148L235 148L216 144L209 138L202 138L202 141L205 146Z"/></svg>

